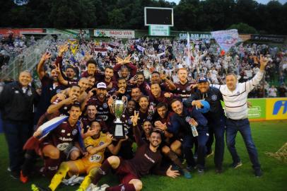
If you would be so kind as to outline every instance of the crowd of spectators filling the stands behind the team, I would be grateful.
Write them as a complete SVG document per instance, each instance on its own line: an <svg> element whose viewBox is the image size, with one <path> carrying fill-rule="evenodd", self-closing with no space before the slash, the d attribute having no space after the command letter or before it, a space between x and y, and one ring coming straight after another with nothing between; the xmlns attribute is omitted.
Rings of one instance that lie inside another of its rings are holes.
<svg viewBox="0 0 287 191"><path fill-rule="evenodd" d="M2 37L0 44L0 68L5 69L11 57L15 57L29 45L35 44L35 38L26 40L25 36ZM110 39L84 40L80 43L75 39L52 40L47 52L52 54L50 67L57 57L57 47L69 44L69 50L64 54L64 69L74 67L78 76L86 70L86 61L95 59L98 68L103 71L106 66L115 66L115 57L127 57L131 54L131 62L144 72L147 81L153 71L163 72L173 82L178 82L177 70L187 68L189 80L194 81L199 76L206 76L211 83L223 84L225 74L234 72L240 82L247 81L259 70L259 55L269 58L264 80L250 93L250 98L286 96L287 57L286 46L269 47L268 45L239 44L228 53L223 53L214 40L192 40L190 64L187 63L187 41L154 39L146 37L136 40ZM263 86L264 88L262 88ZM271 86L276 88L276 91ZM264 90L264 91L262 91ZM271 93L271 94L270 94Z"/></svg>

